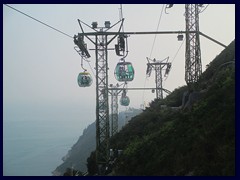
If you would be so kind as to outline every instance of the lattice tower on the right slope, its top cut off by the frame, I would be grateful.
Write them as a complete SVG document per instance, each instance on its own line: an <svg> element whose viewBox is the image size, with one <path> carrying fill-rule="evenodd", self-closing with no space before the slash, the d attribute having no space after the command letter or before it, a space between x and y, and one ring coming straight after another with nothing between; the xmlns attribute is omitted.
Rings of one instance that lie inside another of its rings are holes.
<svg viewBox="0 0 240 180"><path fill-rule="evenodd" d="M185 5L186 52L185 81L193 88L202 73L201 50L199 40L199 4ZM190 33L191 32L191 33Z"/></svg>

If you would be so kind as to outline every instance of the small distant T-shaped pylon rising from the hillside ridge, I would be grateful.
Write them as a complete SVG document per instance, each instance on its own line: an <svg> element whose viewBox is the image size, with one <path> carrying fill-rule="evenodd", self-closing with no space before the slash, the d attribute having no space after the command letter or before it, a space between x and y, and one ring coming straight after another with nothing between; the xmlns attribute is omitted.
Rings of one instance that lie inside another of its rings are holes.
<svg viewBox="0 0 240 180"><path fill-rule="evenodd" d="M155 83L156 83L156 98L157 99L163 99L163 87L162 87L162 81L163 81L163 70L165 69L165 75L166 76L170 69L171 69L171 63L167 62L169 57L166 59L159 61L156 59L151 60L150 58L147 58L148 63L147 63L147 76L151 76L152 69L155 70ZM152 62L150 62L152 61ZM166 62L163 62L166 61Z"/></svg>

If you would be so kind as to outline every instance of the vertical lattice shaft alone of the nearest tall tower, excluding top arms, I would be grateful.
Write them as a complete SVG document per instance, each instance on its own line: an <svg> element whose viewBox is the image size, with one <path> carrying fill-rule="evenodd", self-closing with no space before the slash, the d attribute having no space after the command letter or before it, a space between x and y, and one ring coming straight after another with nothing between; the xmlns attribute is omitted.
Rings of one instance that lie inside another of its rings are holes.
<svg viewBox="0 0 240 180"><path fill-rule="evenodd" d="M96 35L96 157L98 164L106 164L109 157L107 45L107 35Z"/></svg>

